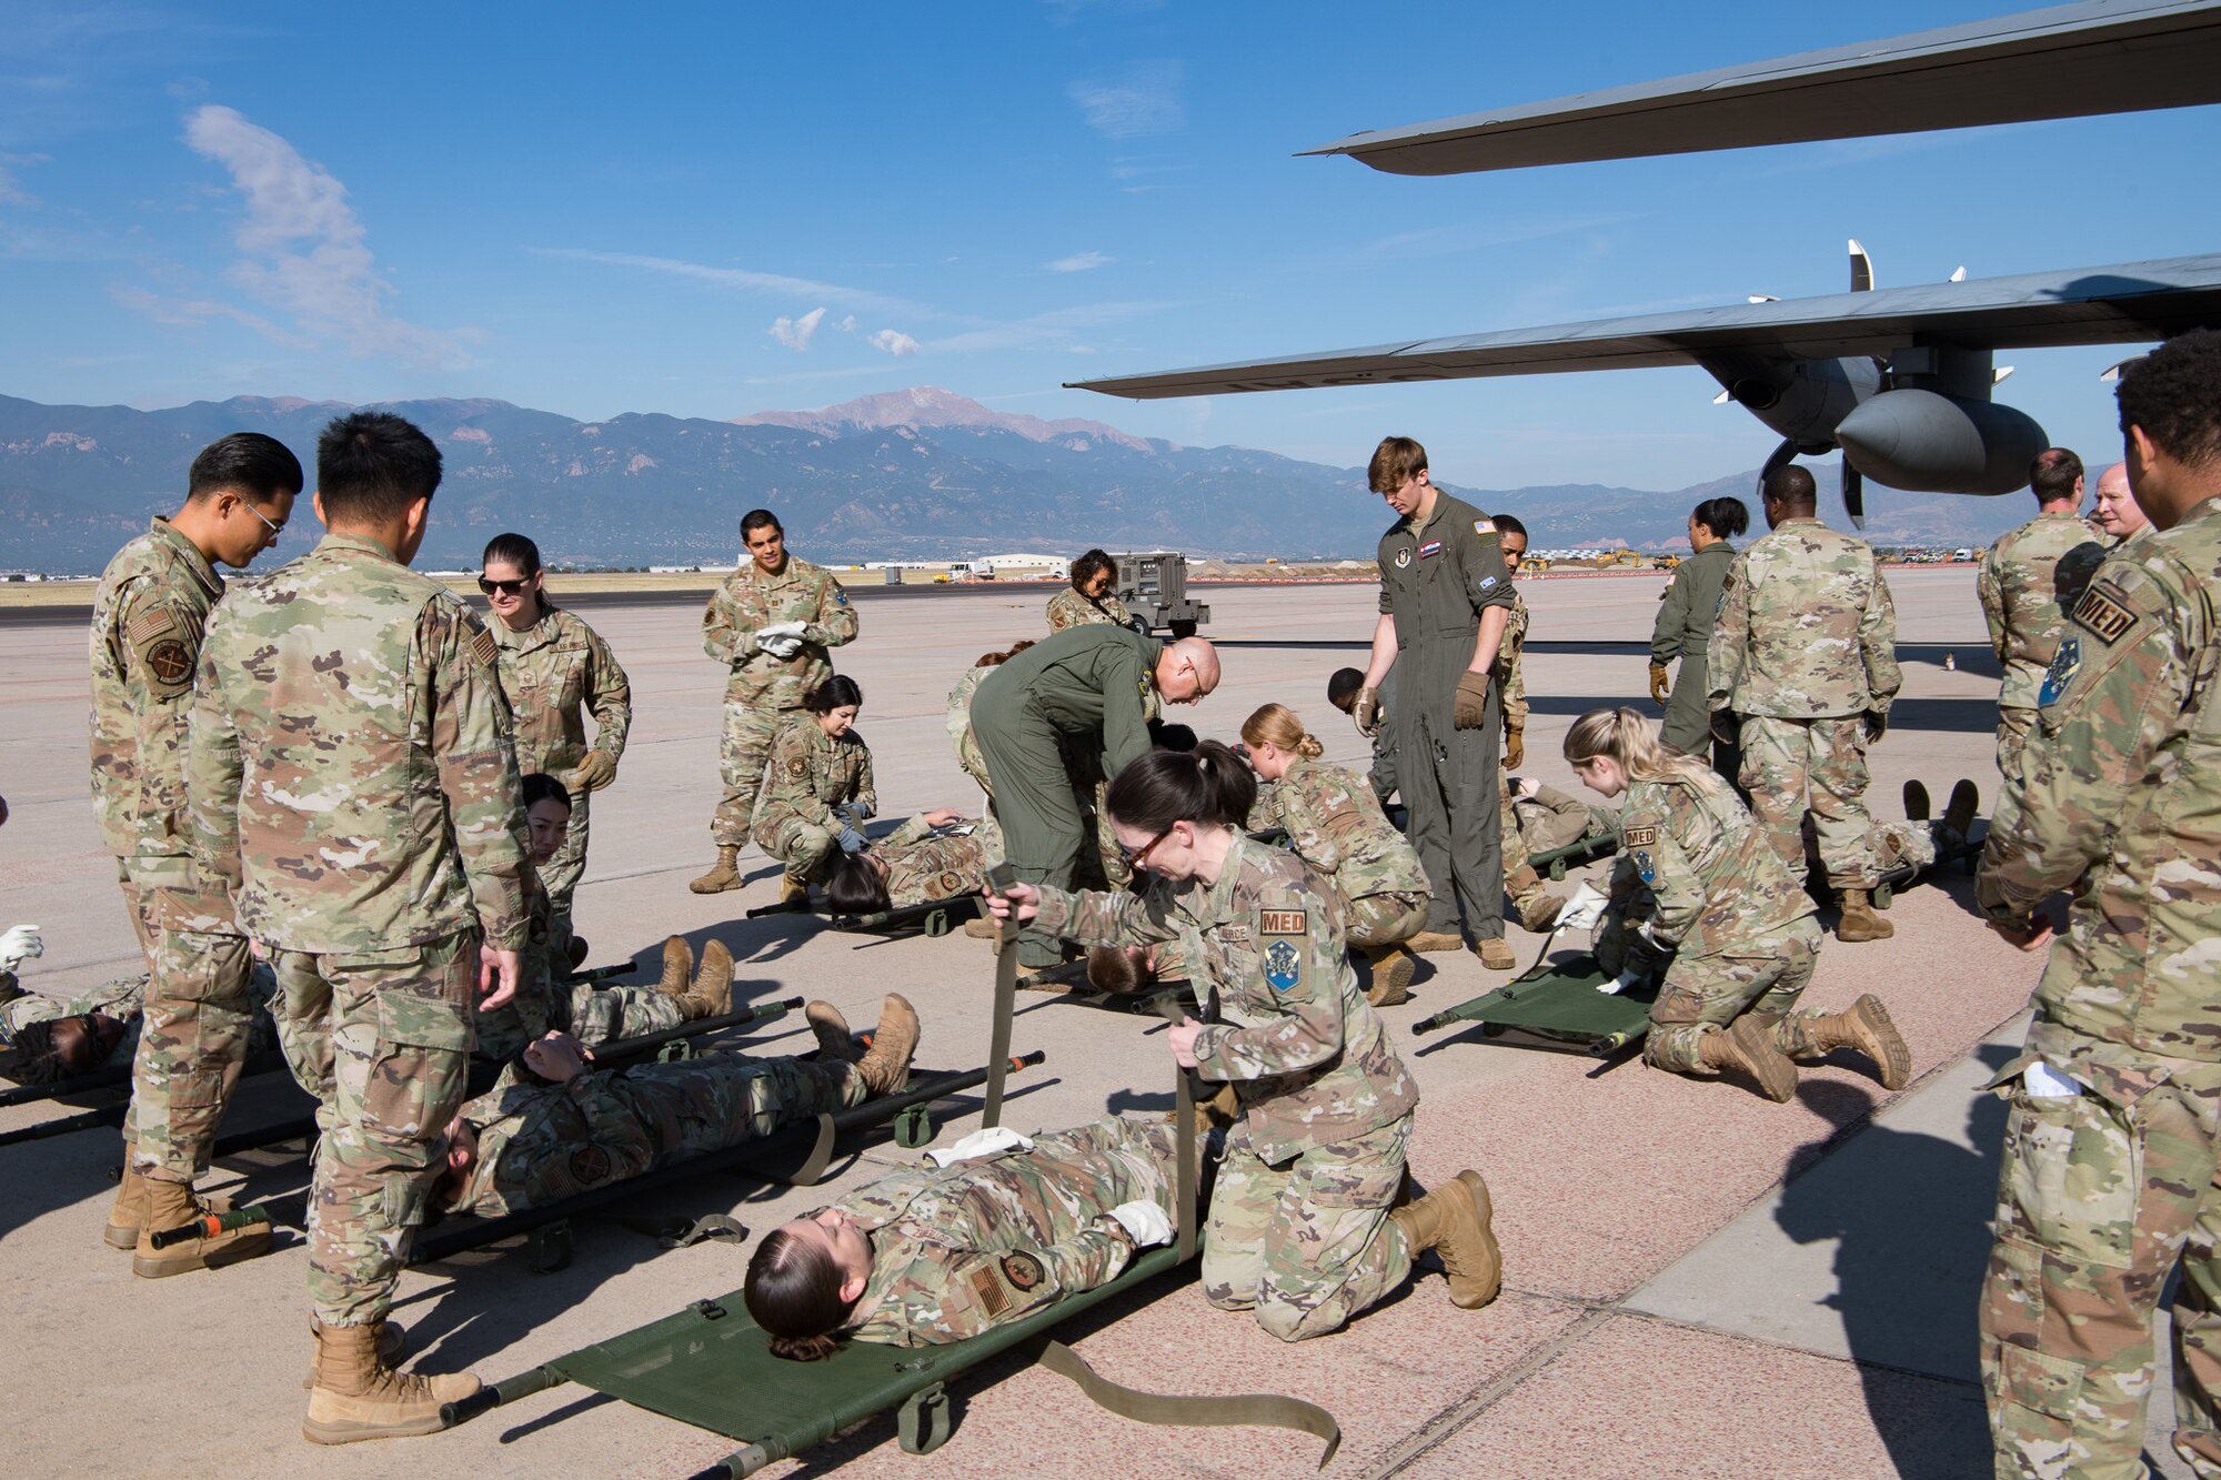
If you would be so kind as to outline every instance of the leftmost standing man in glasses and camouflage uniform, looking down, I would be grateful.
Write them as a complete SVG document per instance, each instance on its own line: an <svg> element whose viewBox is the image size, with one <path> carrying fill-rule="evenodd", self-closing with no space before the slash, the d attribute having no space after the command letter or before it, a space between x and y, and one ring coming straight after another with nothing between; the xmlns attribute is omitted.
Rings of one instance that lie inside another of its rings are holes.
<svg viewBox="0 0 2221 1480"><path fill-rule="evenodd" d="M93 816L115 856L131 929L147 956L147 1016L131 1064L124 1182L102 1236L133 1249L144 1278L269 1249L269 1229L155 1251L147 1233L211 1204L193 1196L224 1100L247 1062L253 958L224 884L193 862L184 818L187 713L200 638L224 593L218 564L244 569L278 542L300 493L300 460L258 431L193 458L184 507L124 544L93 593Z"/></svg>

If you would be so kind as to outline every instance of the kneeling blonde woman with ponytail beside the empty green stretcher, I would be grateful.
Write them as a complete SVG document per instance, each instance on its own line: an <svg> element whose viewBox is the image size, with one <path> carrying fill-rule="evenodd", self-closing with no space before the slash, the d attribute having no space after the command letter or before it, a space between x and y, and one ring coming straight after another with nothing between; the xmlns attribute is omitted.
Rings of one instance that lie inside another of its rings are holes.
<svg viewBox="0 0 2221 1480"><path fill-rule="evenodd" d="M1590 791L1624 798L1597 960L1619 976L1615 991L1666 964L1646 1064L1701 1078L1737 1067L1788 1100L1795 1060L1857 1049L1883 1089L1903 1089L1912 1053L1881 998L1841 1013L1797 1007L1821 942L1812 900L1717 771L1661 747L1632 709L1575 720L1566 760Z"/></svg>

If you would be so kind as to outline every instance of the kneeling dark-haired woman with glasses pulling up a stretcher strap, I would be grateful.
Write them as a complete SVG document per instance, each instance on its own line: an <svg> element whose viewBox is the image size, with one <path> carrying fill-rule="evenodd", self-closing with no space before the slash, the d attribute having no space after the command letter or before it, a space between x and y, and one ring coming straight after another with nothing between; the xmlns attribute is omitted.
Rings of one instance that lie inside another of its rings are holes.
<svg viewBox="0 0 2221 1480"><path fill-rule="evenodd" d="M1110 782L1110 827L1142 893L1015 884L997 918L1088 947L1177 944L1204 1022L1166 1033L1175 1062L1233 1084L1204 1296L1282 1340L1341 1329L1435 1249L1450 1300L1488 1304L1501 1260L1488 1187L1466 1171L1397 1207L1419 1089L1357 991L1341 909L1304 860L1244 833L1257 782L1215 740L1146 751Z"/></svg>

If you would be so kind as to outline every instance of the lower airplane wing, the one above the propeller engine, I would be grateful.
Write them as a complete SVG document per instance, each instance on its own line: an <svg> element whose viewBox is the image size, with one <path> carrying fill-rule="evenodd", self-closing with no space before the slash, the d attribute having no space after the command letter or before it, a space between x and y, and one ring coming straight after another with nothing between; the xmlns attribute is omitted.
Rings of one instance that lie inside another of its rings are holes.
<svg viewBox="0 0 2221 1480"><path fill-rule="evenodd" d="M1066 389L1159 400L1650 364L1835 360L1888 356L1910 344L2141 344L2203 327L2221 327L2221 253L1373 344L1073 380Z"/></svg>

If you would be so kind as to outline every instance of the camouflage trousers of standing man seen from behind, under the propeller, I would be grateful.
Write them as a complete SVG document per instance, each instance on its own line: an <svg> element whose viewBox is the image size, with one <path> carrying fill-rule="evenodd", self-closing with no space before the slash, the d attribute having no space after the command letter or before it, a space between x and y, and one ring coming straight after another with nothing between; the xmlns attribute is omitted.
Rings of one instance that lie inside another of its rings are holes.
<svg viewBox="0 0 2221 1480"><path fill-rule="evenodd" d="M1812 811L1819 860L1835 889L1872 889L1875 847L1866 816L1866 720L1743 716L1743 789L1750 813L1781 862L1803 878L1803 816Z"/></svg>

